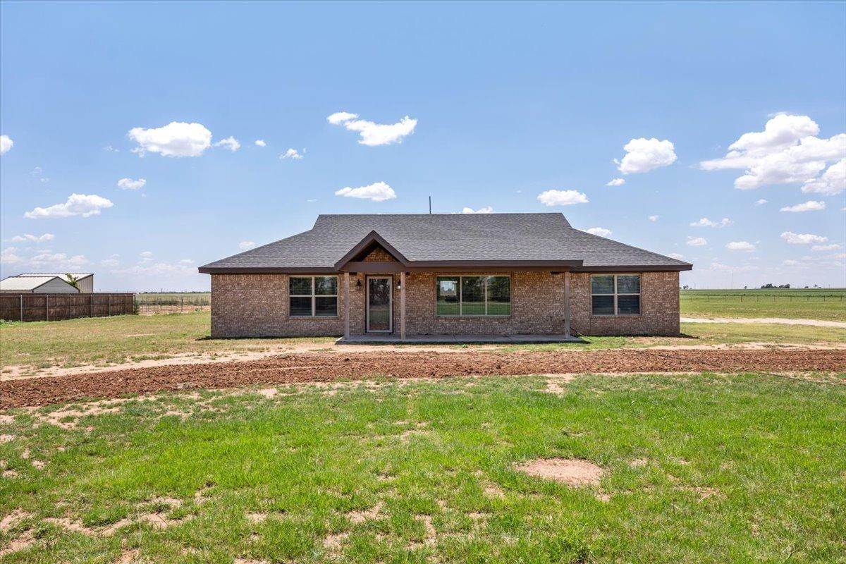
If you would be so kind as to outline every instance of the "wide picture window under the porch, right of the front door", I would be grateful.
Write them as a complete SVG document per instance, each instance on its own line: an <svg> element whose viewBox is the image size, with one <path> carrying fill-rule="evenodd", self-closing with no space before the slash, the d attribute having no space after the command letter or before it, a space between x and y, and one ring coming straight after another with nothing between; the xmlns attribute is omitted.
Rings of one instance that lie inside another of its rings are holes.
<svg viewBox="0 0 846 564"><path fill-rule="evenodd" d="M511 277L437 277L438 317L511 315Z"/></svg>

